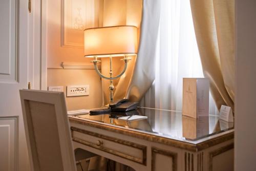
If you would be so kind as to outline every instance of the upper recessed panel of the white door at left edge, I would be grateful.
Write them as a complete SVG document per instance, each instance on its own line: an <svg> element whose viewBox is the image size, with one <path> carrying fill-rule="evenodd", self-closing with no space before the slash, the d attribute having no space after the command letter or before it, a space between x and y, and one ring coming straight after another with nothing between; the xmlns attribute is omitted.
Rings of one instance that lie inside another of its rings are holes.
<svg viewBox="0 0 256 171"><path fill-rule="evenodd" d="M2 0L0 6L0 81L15 81L16 46L16 1ZM2 27L3 26L3 27Z"/></svg>

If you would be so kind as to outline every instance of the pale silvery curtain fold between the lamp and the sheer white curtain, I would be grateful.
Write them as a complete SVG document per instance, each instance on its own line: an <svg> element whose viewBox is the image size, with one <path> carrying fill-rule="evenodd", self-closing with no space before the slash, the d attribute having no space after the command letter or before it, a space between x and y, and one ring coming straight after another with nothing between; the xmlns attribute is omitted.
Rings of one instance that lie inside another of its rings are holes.
<svg viewBox="0 0 256 171"><path fill-rule="evenodd" d="M125 97L140 101L155 80L160 1L144 0L138 56Z"/></svg>

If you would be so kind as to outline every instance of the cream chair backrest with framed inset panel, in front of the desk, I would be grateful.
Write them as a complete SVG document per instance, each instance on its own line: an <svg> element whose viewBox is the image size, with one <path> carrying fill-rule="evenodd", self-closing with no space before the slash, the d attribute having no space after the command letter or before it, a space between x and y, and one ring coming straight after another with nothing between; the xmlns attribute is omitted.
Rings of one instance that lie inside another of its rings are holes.
<svg viewBox="0 0 256 171"><path fill-rule="evenodd" d="M75 171L63 92L20 90L32 170Z"/></svg>

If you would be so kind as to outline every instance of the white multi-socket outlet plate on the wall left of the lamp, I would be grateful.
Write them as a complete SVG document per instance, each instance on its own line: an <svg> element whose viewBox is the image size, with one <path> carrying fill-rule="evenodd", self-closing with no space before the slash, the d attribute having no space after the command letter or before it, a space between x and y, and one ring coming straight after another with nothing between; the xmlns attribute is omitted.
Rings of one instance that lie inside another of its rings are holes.
<svg viewBox="0 0 256 171"><path fill-rule="evenodd" d="M88 95L89 95L89 85L67 86L67 97L88 96Z"/></svg>

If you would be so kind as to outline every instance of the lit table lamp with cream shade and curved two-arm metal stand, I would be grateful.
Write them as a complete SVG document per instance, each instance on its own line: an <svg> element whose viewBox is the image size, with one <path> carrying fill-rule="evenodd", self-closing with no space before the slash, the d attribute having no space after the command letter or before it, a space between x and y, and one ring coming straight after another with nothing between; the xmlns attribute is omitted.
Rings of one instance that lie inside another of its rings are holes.
<svg viewBox="0 0 256 171"><path fill-rule="evenodd" d="M113 26L90 28L84 30L84 57L93 57L94 68L100 77L110 80L110 102L113 101L113 79L123 75L127 68L127 62L131 60L130 56L137 54L137 28L135 26ZM113 76L112 57L123 56L123 71ZM104 76L100 73L97 63L98 57L110 58L110 76Z"/></svg>

